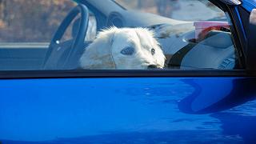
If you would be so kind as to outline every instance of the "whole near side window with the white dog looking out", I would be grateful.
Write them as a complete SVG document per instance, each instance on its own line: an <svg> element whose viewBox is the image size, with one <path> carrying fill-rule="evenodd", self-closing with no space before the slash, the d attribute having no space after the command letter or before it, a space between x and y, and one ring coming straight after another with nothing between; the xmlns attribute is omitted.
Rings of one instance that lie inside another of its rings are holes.
<svg viewBox="0 0 256 144"><path fill-rule="evenodd" d="M106 1L103 10L101 1L0 1L0 70L242 67L230 16L214 3L115 2ZM126 10L118 9L119 5ZM97 23L105 26L99 29Z"/></svg>

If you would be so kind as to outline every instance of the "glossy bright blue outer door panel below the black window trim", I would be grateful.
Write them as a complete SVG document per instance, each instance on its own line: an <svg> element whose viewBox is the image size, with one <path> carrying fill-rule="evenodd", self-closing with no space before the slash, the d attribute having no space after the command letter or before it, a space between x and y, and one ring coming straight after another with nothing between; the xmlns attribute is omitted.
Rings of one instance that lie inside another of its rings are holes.
<svg viewBox="0 0 256 144"><path fill-rule="evenodd" d="M255 83L255 78L1 80L0 142L253 142Z"/></svg>

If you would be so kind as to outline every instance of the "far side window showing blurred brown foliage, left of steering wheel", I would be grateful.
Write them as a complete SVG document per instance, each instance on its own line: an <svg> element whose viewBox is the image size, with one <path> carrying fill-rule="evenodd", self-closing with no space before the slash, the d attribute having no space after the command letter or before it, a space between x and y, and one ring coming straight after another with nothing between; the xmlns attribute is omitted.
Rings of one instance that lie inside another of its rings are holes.
<svg viewBox="0 0 256 144"><path fill-rule="evenodd" d="M0 42L50 42L74 6L70 0L0 0Z"/></svg>

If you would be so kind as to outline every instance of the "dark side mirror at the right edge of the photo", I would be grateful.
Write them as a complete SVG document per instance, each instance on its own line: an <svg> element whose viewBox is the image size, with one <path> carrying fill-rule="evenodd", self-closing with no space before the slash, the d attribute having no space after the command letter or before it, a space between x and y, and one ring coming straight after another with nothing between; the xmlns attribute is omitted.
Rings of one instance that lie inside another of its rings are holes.
<svg viewBox="0 0 256 144"><path fill-rule="evenodd" d="M246 64L247 70L256 73L256 9L250 13Z"/></svg>

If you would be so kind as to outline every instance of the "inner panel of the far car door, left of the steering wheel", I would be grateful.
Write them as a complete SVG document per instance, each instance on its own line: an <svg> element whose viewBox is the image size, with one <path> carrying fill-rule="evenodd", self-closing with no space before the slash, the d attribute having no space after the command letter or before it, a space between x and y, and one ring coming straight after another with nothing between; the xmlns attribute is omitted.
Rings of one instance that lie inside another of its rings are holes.
<svg viewBox="0 0 256 144"><path fill-rule="evenodd" d="M0 43L0 70L40 70L48 43Z"/></svg>

